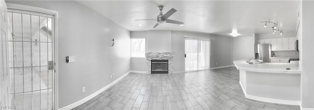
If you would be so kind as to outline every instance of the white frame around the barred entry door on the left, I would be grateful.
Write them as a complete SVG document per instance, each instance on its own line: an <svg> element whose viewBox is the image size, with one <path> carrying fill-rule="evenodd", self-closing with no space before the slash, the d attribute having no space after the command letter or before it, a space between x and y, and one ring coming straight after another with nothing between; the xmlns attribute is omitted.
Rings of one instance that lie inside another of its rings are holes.
<svg viewBox="0 0 314 110"><path fill-rule="evenodd" d="M34 7L34 6L28 6L28 5L22 5L22 4L15 4L15 3L6 3L7 8L10 9L19 9L19 10L26 10L26 11L33 11L33 12L40 12L40 13L45 13L45 14L50 14L54 16L54 110L58 110L58 102L59 102L59 89L58 89L58 78L59 78L59 57L58 57L58 12L54 10L49 10L45 8L40 8L40 7Z"/></svg>

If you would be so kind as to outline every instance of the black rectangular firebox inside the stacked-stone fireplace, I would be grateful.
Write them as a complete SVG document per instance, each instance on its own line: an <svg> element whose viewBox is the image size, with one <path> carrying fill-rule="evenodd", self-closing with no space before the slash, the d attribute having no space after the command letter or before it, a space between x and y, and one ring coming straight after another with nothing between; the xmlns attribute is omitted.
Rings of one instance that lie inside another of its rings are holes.
<svg viewBox="0 0 314 110"><path fill-rule="evenodd" d="M168 73L168 59L152 59L151 73Z"/></svg>

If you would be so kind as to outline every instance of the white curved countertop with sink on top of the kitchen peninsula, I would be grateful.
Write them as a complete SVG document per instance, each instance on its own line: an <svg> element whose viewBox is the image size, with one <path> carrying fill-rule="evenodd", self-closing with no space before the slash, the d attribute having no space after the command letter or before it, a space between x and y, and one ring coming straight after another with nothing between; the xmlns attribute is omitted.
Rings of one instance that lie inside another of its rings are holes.
<svg viewBox="0 0 314 110"><path fill-rule="evenodd" d="M251 61L252 62L252 61ZM261 63L249 64L245 59L235 60L235 67L238 70L265 72L265 73L287 73L287 74L301 74L299 64L297 63ZM290 68L290 70L286 70Z"/></svg>

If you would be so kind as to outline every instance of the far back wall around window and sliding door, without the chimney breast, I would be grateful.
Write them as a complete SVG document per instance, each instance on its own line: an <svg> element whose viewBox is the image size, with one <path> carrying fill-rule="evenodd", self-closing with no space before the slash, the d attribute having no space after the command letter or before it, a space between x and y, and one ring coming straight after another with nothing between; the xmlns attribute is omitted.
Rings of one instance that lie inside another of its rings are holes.
<svg viewBox="0 0 314 110"><path fill-rule="evenodd" d="M159 31L160 32L160 31ZM166 31L166 33L169 33ZM160 34L160 33L158 33ZM131 37L148 36L148 31L131 31ZM171 31L171 52L174 52L174 72L185 71L184 36L209 37L210 43L210 68L232 65L232 38L199 32ZM155 36L159 37L159 36ZM149 41L146 40L146 44ZM147 49L147 48L146 48ZM146 71L146 58L131 58L131 70ZM144 64L145 63L145 64ZM217 63L217 65L216 65Z"/></svg>

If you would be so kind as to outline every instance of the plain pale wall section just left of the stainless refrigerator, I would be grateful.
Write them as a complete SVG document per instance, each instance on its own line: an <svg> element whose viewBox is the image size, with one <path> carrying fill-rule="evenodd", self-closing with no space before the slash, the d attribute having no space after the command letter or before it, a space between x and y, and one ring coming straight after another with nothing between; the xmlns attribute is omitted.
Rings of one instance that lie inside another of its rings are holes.
<svg viewBox="0 0 314 110"><path fill-rule="evenodd" d="M248 59L254 57L253 36L232 38L232 59Z"/></svg>

